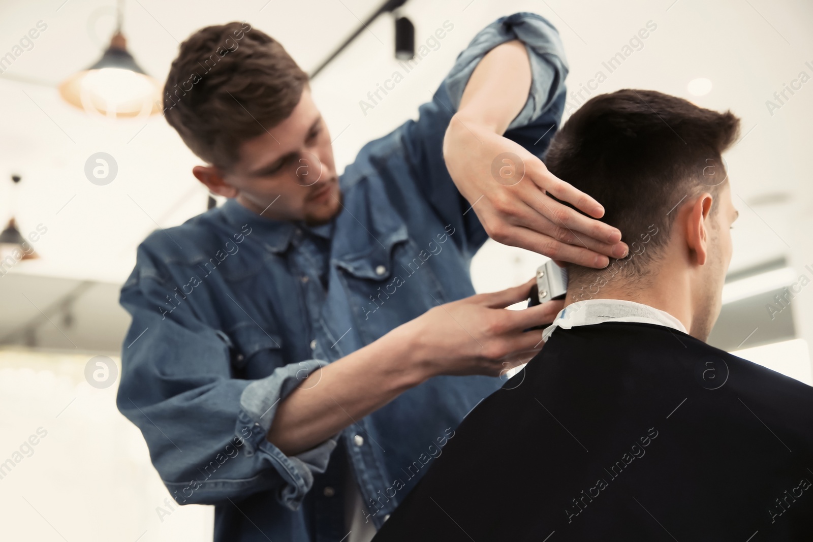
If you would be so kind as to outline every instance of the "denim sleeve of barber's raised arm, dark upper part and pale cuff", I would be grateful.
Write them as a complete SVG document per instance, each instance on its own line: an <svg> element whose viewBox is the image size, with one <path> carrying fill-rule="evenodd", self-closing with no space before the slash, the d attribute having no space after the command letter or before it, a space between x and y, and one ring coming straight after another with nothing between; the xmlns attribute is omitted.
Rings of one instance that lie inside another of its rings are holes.
<svg viewBox="0 0 813 542"><path fill-rule="evenodd" d="M533 13L502 17L477 33L458 55L432 101L420 106L419 119L399 128L413 182L443 223L464 232L453 239L469 257L485 243L488 234L476 213L468 212L472 205L460 195L446 169L443 138L477 64L494 47L512 40L522 41L528 50L532 83L528 99L505 137L541 158L561 119L567 60L556 28Z"/></svg>

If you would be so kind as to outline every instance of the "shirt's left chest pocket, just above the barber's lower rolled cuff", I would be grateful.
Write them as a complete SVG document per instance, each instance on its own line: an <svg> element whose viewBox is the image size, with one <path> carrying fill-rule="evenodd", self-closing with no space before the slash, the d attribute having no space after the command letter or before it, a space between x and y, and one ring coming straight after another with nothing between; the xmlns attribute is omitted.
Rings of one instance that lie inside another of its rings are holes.
<svg viewBox="0 0 813 542"><path fill-rule="evenodd" d="M252 321L237 323L227 334L233 343L233 369L242 378L264 378L285 365L279 334L268 332Z"/></svg>

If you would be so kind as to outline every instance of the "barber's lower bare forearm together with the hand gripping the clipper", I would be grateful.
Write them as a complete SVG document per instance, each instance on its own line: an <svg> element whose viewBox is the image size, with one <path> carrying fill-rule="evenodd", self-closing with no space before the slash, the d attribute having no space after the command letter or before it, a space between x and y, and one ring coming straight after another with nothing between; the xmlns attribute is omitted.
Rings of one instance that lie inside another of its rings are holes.
<svg viewBox="0 0 813 542"><path fill-rule="evenodd" d="M267 440L287 455L301 453L433 376L497 376L528 362L541 341L523 330L561 310L559 301L507 310L528 298L531 284L433 306L311 373L280 402Z"/></svg>

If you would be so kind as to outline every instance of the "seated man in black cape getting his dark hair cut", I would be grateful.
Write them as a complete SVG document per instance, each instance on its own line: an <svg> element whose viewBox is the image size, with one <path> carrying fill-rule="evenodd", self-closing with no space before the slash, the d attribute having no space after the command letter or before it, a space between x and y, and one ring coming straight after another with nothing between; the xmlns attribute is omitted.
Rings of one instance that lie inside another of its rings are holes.
<svg viewBox="0 0 813 542"><path fill-rule="evenodd" d="M568 268L544 349L467 415L374 542L813 540L813 388L705 343L738 128L629 89L567 120L547 167L631 252Z"/></svg>

